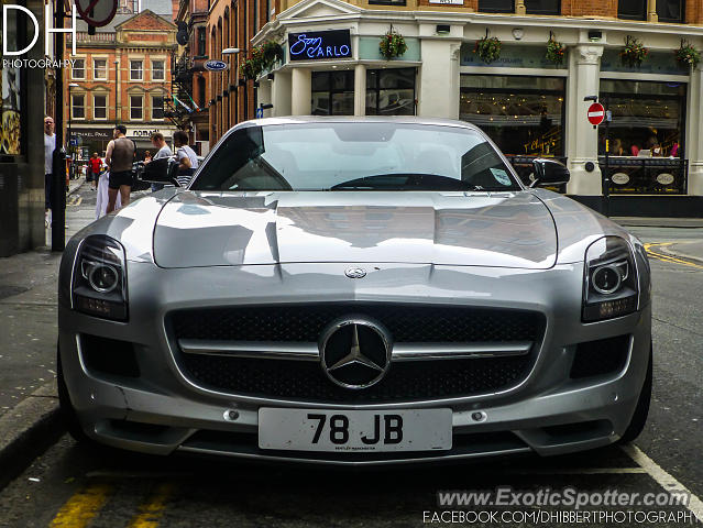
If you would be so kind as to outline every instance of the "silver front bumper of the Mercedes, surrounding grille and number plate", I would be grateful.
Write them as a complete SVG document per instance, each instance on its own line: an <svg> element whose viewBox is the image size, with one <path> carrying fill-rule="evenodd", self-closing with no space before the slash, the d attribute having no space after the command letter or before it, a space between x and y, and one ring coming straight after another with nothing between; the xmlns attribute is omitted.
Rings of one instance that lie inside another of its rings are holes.
<svg viewBox="0 0 703 528"><path fill-rule="evenodd" d="M380 264L378 267L384 270L393 267L392 278L374 277L371 273L362 286L338 278L337 267L348 266L347 263L326 265L326 268L332 268L329 272L321 272L322 265L309 264L281 266L285 270L278 271L271 266L166 271L152 264L130 263L130 321L127 323L77 314L67 306L66 299L59 300L64 375L86 433L118 448L157 454L189 451L363 465L519 452L560 454L606 446L616 441L627 428L649 359L650 305L614 320L581 323L582 270L578 265L524 272ZM315 277L317 288L310 287L310 277ZM320 299L427 304L431 298L432 302L439 304L526 309L543 314L547 328L529 376L499 393L343 405L223 394L189 382L174 360L176 344L164 324L166 314L187 307L251 304L254 292L259 304ZM127 380L90 371L83 361L81 334L134 343L140 376ZM620 370L606 375L570 378L576 343L625 334L630 337L629 350ZM309 409L449 407L453 413L453 448L441 453L261 450L256 442L257 410L274 406ZM232 416L231 410L235 411L235 419L228 417ZM477 411L483 413L481 420L474 417Z"/></svg>

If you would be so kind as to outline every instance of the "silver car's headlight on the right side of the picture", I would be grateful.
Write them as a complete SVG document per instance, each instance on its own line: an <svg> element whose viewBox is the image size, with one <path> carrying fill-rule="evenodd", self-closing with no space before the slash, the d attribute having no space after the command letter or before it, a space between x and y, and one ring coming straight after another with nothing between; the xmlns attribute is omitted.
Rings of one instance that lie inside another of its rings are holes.
<svg viewBox="0 0 703 528"><path fill-rule="evenodd" d="M593 242L585 254L584 322L625 316L637 310L637 267L633 251L619 237Z"/></svg>

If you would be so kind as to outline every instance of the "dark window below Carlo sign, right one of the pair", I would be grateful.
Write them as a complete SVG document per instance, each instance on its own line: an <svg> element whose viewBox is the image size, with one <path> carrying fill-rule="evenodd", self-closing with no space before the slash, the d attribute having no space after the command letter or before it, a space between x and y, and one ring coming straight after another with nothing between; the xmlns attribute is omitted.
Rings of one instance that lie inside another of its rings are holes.
<svg viewBox="0 0 703 528"><path fill-rule="evenodd" d="M415 116L415 68L367 70L366 116Z"/></svg>

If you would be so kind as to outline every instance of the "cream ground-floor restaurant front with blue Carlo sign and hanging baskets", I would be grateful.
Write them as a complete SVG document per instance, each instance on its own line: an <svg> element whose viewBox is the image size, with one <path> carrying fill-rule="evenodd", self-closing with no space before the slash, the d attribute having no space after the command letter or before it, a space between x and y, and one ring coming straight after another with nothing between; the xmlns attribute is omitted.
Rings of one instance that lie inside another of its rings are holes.
<svg viewBox="0 0 703 528"><path fill-rule="evenodd" d="M624 215L691 213L702 205L703 103L692 94L703 89L703 73L677 63L680 30L663 24L645 33L627 21L596 28L568 19L546 26L529 16L450 12L439 23L436 16L300 1L253 40L274 35L285 45L283 63L257 79L259 102L273 105L264 116L460 119L481 128L524 178L535 157L565 163L571 180L561 190L590 207L603 209L606 188ZM387 61L378 46L391 30L403 34L407 52ZM501 42L490 63L474 51L485 36ZM551 37L565 47L557 64L546 54ZM622 63L628 37L651 46L639 66ZM586 116L596 97L613 117L608 156L605 124L596 130ZM648 207L635 197L647 198ZM672 205L670 198L685 199Z"/></svg>

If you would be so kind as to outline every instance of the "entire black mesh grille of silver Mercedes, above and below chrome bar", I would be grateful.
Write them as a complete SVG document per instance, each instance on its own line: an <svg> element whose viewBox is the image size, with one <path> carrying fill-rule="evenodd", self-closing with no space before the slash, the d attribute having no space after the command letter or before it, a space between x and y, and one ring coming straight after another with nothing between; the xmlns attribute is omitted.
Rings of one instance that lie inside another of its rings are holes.
<svg viewBox="0 0 703 528"><path fill-rule="evenodd" d="M536 312L447 306L306 305L182 310L169 316L178 339L317 342L334 319L361 315L398 342L531 341L529 354L506 358L394 361L377 384L352 391L332 383L317 361L177 353L184 374L212 391L306 402L393 403L453 398L510 388L527 377L545 329Z"/></svg>

